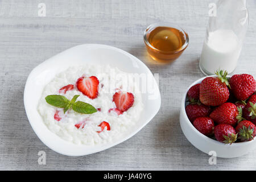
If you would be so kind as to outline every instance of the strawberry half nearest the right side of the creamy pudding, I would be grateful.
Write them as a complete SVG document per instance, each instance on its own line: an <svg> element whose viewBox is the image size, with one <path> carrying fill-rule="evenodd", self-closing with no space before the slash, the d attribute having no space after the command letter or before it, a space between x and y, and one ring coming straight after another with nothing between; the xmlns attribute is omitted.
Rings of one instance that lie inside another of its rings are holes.
<svg viewBox="0 0 256 182"><path fill-rule="evenodd" d="M134 96L130 92L115 92L113 102L115 102L117 109L124 112L133 106Z"/></svg>

